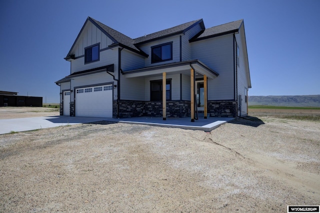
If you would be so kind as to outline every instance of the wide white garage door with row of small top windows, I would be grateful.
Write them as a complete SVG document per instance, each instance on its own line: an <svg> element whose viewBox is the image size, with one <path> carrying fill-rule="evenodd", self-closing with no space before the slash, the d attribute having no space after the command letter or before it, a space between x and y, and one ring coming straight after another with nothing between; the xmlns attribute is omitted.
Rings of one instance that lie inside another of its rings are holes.
<svg viewBox="0 0 320 213"><path fill-rule="evenodd" d="M77 88L75 116L112 117L112 85Z"/></svg>

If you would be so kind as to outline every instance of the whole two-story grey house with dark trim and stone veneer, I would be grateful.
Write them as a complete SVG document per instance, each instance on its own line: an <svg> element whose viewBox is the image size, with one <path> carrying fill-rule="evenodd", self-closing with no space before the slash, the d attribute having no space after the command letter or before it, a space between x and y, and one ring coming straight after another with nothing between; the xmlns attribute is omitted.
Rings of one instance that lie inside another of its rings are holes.
<svg viewBox="0 0 320 213"><path fill-rule="evenodd" d="M88 17L64 58L60 114L196 118L247 114L251 87L243 20L202 19L130 38Z"/></svg>

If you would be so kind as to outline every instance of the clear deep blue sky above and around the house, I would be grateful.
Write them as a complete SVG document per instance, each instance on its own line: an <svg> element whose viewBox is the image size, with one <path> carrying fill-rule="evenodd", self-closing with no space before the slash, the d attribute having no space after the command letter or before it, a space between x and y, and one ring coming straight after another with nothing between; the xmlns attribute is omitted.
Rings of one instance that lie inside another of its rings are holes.
<svg viewBox="0 0 320 213"><path fill-rule="evenodd" d="M0 2L0 90L59 102L54 81L87 16L136 38L203 18L244 19L249 95L320 94L320 0L6 0Z"/></svg>

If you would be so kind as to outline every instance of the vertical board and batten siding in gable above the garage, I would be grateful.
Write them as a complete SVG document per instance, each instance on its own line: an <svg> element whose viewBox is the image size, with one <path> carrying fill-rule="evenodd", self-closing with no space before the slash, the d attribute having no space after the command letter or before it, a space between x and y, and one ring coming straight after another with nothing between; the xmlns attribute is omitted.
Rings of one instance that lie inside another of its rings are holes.
<svg viewBox="0 0 320 213"><path fill-rule="evenodd" d="M71 54L74 54L75 57L82 56L84 55L84 48L95 43L100 43L100 49L103 49L112 44L112 40L94 24L87 21L71 50Z"/></svg>

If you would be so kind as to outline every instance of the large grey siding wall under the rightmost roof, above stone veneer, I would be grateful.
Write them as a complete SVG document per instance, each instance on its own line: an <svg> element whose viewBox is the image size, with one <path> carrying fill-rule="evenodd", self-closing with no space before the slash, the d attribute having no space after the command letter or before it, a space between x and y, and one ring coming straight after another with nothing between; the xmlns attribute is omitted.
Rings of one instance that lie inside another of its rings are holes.
<svg viewBox="0 0 320 213"><path fill-rule="evenodd" d="M191 57L198 59L218 77L208 79L208 100L234 99L233 34L191 42Z"/></svg>

